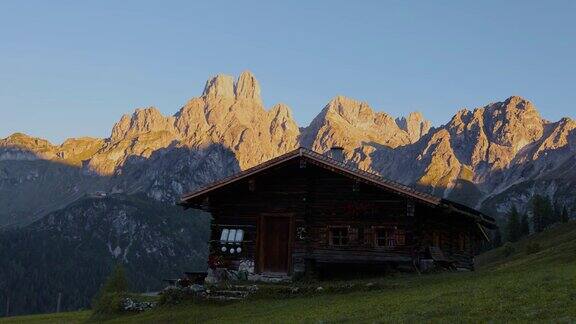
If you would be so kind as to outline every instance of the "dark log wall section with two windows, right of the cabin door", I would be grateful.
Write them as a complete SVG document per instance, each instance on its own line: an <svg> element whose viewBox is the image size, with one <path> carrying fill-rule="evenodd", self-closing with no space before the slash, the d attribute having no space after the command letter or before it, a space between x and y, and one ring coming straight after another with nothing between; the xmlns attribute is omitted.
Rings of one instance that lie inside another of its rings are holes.
<svg viewBox="0 0 576 324"><path fill-rule="evenodd" d="M306 204L305 248L297 257L318 263L410 262L413 253L408 200L344 175L311 165ZM349 244L330 244L330 230L346 227ZM405 231L406 244L395 248L375 246L375 229L396 227Z"/></svg>

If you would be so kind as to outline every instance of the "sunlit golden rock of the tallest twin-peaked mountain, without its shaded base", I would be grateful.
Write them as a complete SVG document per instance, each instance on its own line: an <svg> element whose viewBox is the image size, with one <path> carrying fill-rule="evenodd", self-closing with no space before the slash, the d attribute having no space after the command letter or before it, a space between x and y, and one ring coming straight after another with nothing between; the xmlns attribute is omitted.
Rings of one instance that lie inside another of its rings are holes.
<svg viewBox="0 0 576 324"><path fill-rule="evenodd" d="M145 161L160 149L194 150L211 144L227 148L240 168L247 168L296 148L298 136L288 106L264 108L260 86L250 72L236 81L218 75L206 82L202 96L174 116L163 116L156 108L123 116L106 146L90 160L90 168L108 175L121 172L129 159Z"/></svg>

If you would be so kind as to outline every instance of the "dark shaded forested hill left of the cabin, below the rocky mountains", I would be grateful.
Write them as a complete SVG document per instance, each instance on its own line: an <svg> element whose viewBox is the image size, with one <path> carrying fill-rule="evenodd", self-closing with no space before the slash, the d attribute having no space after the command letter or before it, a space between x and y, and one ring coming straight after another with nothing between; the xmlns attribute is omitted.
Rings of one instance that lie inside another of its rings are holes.
<svg viewBox="0 0 576 324"><path fill-rule="evenodd" d="M24 228L0 232L0 309L44 313L90 306L118 262L135 291L206 264L208 218L142 196L84 197ZM3 313L3 311L1 312Z"/></svg>

